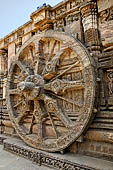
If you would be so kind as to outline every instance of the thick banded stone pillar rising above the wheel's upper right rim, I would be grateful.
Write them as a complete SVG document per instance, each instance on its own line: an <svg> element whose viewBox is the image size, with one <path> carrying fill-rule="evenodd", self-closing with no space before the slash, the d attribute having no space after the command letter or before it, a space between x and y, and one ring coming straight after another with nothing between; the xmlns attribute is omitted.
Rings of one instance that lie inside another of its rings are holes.
<svg viewBox="0 0 113 170"><path fill-rule="evenodd" d="M101 51L100 33L98 28L98 8L96 0L88 0L80 8L84 28L85 44L98 62Z"/></svg>

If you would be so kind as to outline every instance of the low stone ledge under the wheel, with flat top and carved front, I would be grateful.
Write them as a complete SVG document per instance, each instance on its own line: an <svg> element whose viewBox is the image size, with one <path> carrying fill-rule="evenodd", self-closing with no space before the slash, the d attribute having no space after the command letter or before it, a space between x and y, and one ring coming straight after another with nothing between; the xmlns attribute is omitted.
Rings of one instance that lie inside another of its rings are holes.
<svg viewBox="0 0 113 170"><path fill-rule="evenodd" d="M20 139L6 138L3 142L4 150L24 157L39 166L47 166L58 170L113 170L113 162L110 161L79 154L47 153L27 146Z"/></svg>

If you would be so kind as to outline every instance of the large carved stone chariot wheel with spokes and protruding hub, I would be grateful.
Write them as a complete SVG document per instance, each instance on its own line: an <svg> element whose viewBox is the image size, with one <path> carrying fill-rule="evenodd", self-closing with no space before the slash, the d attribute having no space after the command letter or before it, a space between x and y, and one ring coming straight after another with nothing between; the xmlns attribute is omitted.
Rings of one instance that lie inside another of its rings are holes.
<svg viewBox="0 0 113 170"><path fill-rule="evenodd" d="M88 126L95 98L94 63L65 33L33 36L11 63L7 101L17 134L37 149L62 151Z"/></svg>

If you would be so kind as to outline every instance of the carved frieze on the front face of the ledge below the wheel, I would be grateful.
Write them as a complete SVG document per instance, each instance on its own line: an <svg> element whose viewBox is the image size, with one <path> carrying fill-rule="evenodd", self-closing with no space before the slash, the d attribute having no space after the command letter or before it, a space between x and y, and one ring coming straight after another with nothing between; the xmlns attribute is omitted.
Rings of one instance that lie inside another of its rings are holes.
<svg viewBox="0 0 113 170"><path fill-rule="evenodd" d="M20 147L8 142L4 142L4 150L27 158L28 160L32 161L35 164L38 164L39 166L43 165L50 168L64 170L97 170L96 168L73 163L68 160L60 159L58 157L54 157L43 152L29 150L25 147Z"/></svg>

